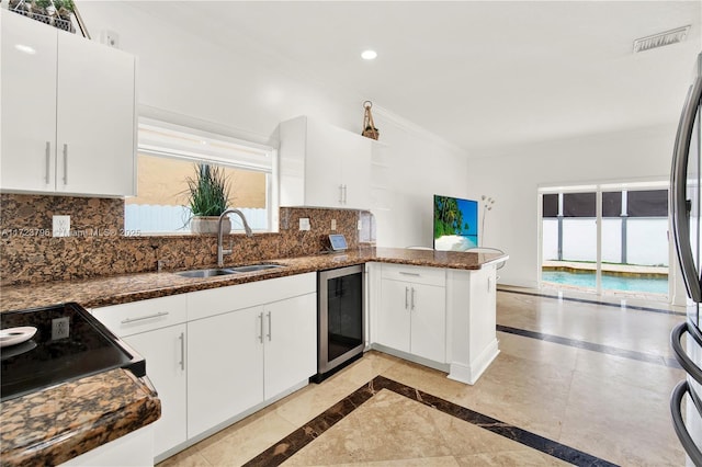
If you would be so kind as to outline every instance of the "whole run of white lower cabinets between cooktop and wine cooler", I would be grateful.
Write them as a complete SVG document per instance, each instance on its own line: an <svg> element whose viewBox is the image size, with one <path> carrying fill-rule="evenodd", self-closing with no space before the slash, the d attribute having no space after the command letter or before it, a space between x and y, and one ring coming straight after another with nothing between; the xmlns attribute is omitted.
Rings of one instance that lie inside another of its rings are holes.
<svg viewBox="0 0 702 467"><path fill-rule="evenodd" d="M157 462L307 383L316 291L308 273L92 310L146 358L161 399Z"/></svg>

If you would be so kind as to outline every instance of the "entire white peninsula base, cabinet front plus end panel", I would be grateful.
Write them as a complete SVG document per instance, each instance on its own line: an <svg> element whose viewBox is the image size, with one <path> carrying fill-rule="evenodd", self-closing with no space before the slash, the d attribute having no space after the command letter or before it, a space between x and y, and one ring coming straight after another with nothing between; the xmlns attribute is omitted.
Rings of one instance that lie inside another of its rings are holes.
<svg viewBox="0 0 702 467"><path fill-rule="evenodd" d="M370 346L475 384L499 354L496 264L372 263L369 272Z"/></svg>

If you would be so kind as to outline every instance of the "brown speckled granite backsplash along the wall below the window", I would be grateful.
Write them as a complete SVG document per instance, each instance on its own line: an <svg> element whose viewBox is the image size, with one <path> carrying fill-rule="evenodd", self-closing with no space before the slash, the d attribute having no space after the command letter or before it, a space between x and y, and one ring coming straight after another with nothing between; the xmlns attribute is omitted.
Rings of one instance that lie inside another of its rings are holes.
<svg viewBox="0 0 702 467"><path fill-rule="evenodd" d="M52 237L54 215L70 215L70 237ZM308 231L298 230L304 217ZM343 234L355 249L373 243L372 224L367 212L281 207L279 232L225 238L225 248L234 242L225 264L316 254L328 246L329 234ZM212 267L217 261L216 235L125 236L122 200L1 194L0 229L0 285L149 272L159 261L166 271Z"/></svg>

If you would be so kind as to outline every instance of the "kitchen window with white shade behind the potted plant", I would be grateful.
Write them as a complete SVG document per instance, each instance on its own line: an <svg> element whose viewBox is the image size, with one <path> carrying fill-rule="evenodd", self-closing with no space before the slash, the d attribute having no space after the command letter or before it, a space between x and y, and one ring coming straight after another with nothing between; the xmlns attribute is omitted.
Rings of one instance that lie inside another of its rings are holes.
<svg viewBox="0 0 702 467"><path fill-rule="evenodd" d="M206 163L225 170L231 204L254 231L278 229L275 149L256 143L162 122L141 119L138 128L137 196L125 200L125 230L190 232L186 178ZM244 231L231 216L233 231Z"/></svg>

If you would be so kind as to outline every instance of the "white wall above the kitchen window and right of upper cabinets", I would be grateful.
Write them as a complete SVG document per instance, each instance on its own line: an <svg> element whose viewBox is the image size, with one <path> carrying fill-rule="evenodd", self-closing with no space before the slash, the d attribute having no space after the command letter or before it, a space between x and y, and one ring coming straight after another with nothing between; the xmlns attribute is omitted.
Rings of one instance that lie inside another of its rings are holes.
<svg viewBox="0 0 702 467"><path fill-rule="evenodd" d="M138 57L138 102L146 116L257 143L297 115L361 130L367 98L317 82L251 44L233 44L233 53L124 2L77 3L93 38L114 31L120 48ZM376 184L388 189L383 208L374 209L377 243L431 246L432 195L466 197L466 155L390 111L378 109L374 116L389 161L374 172Z"/></svg>

